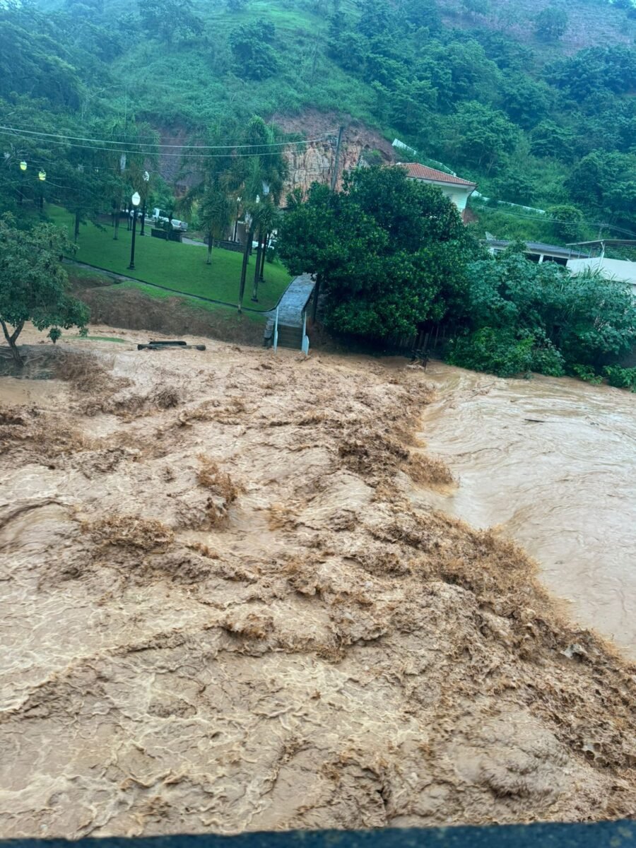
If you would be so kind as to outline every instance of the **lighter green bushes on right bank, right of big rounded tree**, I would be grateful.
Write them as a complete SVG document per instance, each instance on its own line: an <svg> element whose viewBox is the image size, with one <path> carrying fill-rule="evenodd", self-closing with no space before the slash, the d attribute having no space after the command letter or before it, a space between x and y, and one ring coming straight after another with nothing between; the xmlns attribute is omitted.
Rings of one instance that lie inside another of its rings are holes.
<svg viewBox="0 0 636 848"><path fill-rule="evenodd" d="M449 344L447 359L476 371L510 377L538 371L579 377L599 373L636 341L636 307L628 285L561 265L524 258L523 244L496 259L466 266L466 334ZM577 370L578 369L578 370Z"/></svg>

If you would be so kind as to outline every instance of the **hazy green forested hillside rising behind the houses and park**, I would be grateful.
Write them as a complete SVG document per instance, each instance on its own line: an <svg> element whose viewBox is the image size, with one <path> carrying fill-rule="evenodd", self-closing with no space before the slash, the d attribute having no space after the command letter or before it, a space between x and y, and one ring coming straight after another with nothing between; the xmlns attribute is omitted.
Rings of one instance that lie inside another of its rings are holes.
<svg viewBox="0 0 636 848"><path fill-rule="evenodd" d="M357 120L556 221L482 209L498 235L633 232L635 36L632 0L5 0L3 207L28 155L64 201L86 191L78 165L97 166L100 145L79 139L230 144L253 114L302 129L311 109L314 128L321 113L322 131ZM126 144L107 147L113 170ZM178 153L154 166L174 177ZM186 169L196 181L192 156Z"/></svg>

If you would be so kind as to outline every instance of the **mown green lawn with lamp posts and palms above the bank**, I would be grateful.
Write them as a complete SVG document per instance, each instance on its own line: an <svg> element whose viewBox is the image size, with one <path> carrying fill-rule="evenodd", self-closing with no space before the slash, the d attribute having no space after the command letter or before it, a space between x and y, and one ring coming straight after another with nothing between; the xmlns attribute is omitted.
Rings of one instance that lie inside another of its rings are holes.
<svg viewBox="0 0 636 848"><path fill-rule="evenodd" d="M73 216L65 209L52 206L47 209L47 213L53 223L68 226L69 232L73 232ZM81 226L77 240L79 250L75 259L88 265L98 265L99 268L114 271L116 274L134 276L143 282L173 288L184 294L198 294L227 304L237 303L242 254L216 248L212 252L212 265L206 265L207 251L204 247L153 238L150 236L149 226L146 232L147 235L140 237L137 225L135 271L128 271L127 267L131 258L131 232L126 229L125 220L120 225L117 241L114 241L110 226L105 226L103 230L93 224ZM250 300L254 263L255 256L249 260L243 304L250 309L270 310L276 306L291 277L279 262L266 262L266 282L260 283L259 303L254 304ZM154 292L158 291L154 289Z"/></svg>

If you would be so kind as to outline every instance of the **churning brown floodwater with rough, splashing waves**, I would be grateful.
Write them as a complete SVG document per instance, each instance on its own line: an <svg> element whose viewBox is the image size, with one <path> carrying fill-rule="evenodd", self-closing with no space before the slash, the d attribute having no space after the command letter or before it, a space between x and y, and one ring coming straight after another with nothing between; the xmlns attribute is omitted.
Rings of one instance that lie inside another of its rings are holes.
<svg viewBox="0 0 636 848"><path fill-rule="evenodd" d="M633 812L636 669L413 504L425 375L93 347L0 381L1 836Z"/></svg>

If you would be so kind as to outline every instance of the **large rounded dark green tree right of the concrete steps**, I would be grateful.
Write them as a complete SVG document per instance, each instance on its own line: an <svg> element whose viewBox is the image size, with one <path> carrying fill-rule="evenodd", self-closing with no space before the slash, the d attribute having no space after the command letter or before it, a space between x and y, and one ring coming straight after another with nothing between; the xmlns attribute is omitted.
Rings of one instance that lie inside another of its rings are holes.
<svg viewBox="0 0 636 848"><path fill-rule="evenodd" d="M290 204L279 252L293 273L315 273L332 330L382 339L460 312L475 248L438 188L399 167L358 169L343 192L314 185Z"/></svg>

